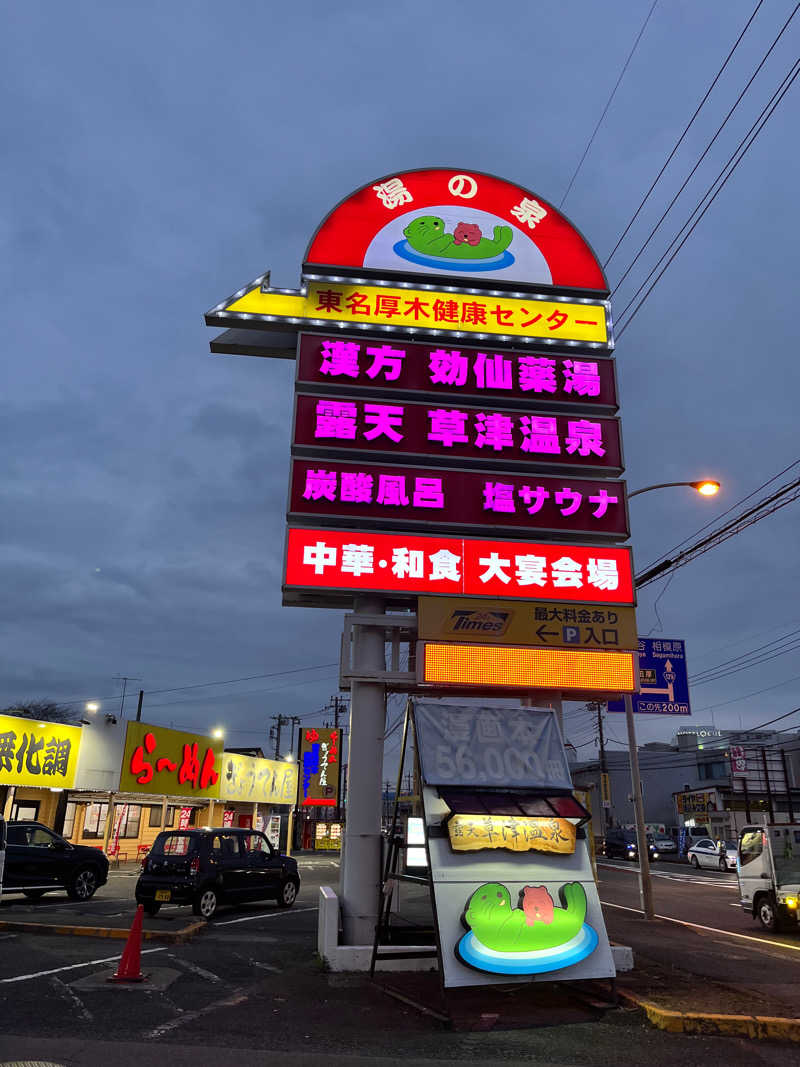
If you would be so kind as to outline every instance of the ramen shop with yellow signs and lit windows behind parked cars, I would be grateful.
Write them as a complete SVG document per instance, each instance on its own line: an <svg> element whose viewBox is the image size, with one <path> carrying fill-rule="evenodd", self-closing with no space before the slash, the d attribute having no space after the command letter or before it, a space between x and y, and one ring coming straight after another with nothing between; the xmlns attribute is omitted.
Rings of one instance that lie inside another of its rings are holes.
<svg viewBox="0 0 800 1067"><path fill-rule="evenodd" d="M105 729L0 716L5 816L121 861L145 855L162 829L193 826L253 827L286 845L297 764L225 752L221 739L165 727L114 729L109 719Z"/></svg>

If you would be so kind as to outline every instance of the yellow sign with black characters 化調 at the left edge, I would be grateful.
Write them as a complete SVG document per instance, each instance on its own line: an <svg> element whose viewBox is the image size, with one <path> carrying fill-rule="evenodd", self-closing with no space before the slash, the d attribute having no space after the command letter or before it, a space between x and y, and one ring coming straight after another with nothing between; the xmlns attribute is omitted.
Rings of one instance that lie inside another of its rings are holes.
<svg viewBox="0 0 800 1067"><path fill-rule="evenodd" d="M80 727L0 715L0 785L71 789L80 744Z"/></svg>

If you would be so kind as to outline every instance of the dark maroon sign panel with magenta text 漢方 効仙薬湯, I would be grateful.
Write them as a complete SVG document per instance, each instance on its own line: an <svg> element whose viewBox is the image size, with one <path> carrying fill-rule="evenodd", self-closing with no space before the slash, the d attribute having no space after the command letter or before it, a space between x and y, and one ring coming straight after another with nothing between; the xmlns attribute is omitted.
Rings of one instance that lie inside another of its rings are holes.
<svg viewBox="0 0 800 1067"><path fill-rule="evenodd" d="M427 393L452 402L582 404L617 411L613 361L301 334L298 385Z"/></svg>

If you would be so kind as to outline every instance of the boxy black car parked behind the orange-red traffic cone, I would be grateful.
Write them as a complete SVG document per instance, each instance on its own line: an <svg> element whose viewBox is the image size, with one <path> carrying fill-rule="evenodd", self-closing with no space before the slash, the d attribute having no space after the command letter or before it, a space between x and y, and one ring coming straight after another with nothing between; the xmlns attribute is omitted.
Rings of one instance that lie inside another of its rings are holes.
<svg viewBox="0 0 800 1067"><path fill-rule="evenodd" d="M159 833L137 882L137 903L155 915L162 904L191 904L211 919L219 904L275 899L290 908L300 890L297 861L276 853L257 830Z"/></svg>

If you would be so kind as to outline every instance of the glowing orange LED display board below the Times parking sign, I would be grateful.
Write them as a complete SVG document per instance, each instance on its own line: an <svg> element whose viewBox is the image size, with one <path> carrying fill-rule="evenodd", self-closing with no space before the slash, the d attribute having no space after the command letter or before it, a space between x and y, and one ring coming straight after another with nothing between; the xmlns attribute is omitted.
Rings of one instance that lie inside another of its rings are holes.
<svg viewBox="0 0 800 1067"><path fill-rule="evenodd" d="M420 641L420 681L437 686L636 692L633 652L521 649Z"/></svg>

